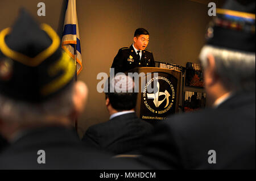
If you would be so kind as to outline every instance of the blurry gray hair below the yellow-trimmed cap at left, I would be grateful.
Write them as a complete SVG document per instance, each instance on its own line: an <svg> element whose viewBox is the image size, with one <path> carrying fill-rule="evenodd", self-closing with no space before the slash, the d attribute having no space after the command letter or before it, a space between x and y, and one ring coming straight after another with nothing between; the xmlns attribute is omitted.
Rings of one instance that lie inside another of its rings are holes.
<svg viewBox="0 0 256 181"><path fill-rule="evenodd" d="M0 94L0 119L24 123L44 121L46 116L68 116L73 108L73 85L43 103L27 103Z"/></svg>

